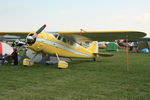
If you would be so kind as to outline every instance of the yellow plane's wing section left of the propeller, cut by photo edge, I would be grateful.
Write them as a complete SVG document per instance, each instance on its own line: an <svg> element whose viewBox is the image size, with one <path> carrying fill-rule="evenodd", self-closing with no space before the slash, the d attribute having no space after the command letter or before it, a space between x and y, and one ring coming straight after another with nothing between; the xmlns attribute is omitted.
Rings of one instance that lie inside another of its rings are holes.
<svg viewBox="0 0 150 100"><path fill-rule="evenodd" d="M15 37L19 37L19 38L25 38L30 32L0 32L0 35L2 37L12 37L12 38L15 38ZM17 37L17 38L18 38ZM5 39L5 38L4 38Z"/></svg>

